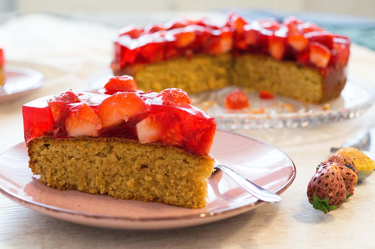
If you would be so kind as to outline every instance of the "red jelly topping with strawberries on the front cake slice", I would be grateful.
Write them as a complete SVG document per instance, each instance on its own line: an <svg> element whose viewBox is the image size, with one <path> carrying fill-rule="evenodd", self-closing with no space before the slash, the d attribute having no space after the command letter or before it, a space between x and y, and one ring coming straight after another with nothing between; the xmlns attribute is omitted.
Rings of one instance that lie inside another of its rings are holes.
<svg viewBox="0 0 375 249"><path fill-rule="evenodd" d="M216 130L214 119L190 105L183 90L144 93L130 76L111 78L98 91L31 101L23 106L23 118L26 143L42 135L119 137L162 142L196 155L210 152Z"/></svg>

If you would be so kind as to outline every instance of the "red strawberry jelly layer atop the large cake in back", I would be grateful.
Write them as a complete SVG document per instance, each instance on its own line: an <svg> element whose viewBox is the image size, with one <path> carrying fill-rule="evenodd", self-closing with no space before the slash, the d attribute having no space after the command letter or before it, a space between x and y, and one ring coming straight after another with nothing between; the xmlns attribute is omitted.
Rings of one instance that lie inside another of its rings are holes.
<svg viewBox="0 0 375 249"><path fill-rule="evenodd" d="M194 53L219 55L259 53L278 61L297 63L324 70L346 67L350 40L324 31L312 22L293 16L282 22L275 19L249 20L228 15L223 24L214 20L175 19L166 24L140 28L125 27L115 40L115 71L135 63L152 63Z"/></svg>

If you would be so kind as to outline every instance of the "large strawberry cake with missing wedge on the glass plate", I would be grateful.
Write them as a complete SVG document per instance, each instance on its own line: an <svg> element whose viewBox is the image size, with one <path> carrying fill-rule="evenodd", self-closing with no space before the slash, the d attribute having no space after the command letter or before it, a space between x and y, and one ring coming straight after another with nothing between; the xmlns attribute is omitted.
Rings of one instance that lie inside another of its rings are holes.
<svg viewBox="0 0 375 249"><path fill-rule="evenodd" d="M132 75L145 91L237 85L320 103L345 86L350 40L295 17L280 23L230 14L223 24L178 19L125 27L114 45L114 75Z"/></svg>

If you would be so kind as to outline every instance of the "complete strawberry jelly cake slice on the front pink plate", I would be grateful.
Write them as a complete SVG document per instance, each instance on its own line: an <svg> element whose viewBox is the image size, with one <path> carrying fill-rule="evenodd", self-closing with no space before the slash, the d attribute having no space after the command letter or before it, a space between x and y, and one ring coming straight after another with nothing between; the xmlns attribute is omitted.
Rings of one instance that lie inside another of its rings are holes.
<svg viewBox="0 0 375 249"><path fill-rule="evenodd" d="M214 119L180 89L138 90L132 77L104 89L23 106L29 167L50 187L190 208L207 204Z"/></svg>

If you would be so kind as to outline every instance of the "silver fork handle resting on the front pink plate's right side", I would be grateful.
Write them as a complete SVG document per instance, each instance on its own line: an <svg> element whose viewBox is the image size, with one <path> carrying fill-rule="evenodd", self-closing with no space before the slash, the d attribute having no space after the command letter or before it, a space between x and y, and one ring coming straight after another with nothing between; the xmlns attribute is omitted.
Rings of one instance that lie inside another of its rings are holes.
<svg viewBox="0 0 375 249"><path fill-rule="evenodd" d="M237 182L238 185L240 185L244 190L248 191L253 196L257 197L260 200L263 200L265 202L280 202L282 200L281 196L278 194L272 193L271 191L268 191L257 184L255 184L252 181L249 181L244 176L240 175L233 169L220 165L219 163L215 163L213 166L215 171L217 169L220 169L222 172L224 172L226 175L228 175L230 178L232 178L235 182Z"/></svg>

